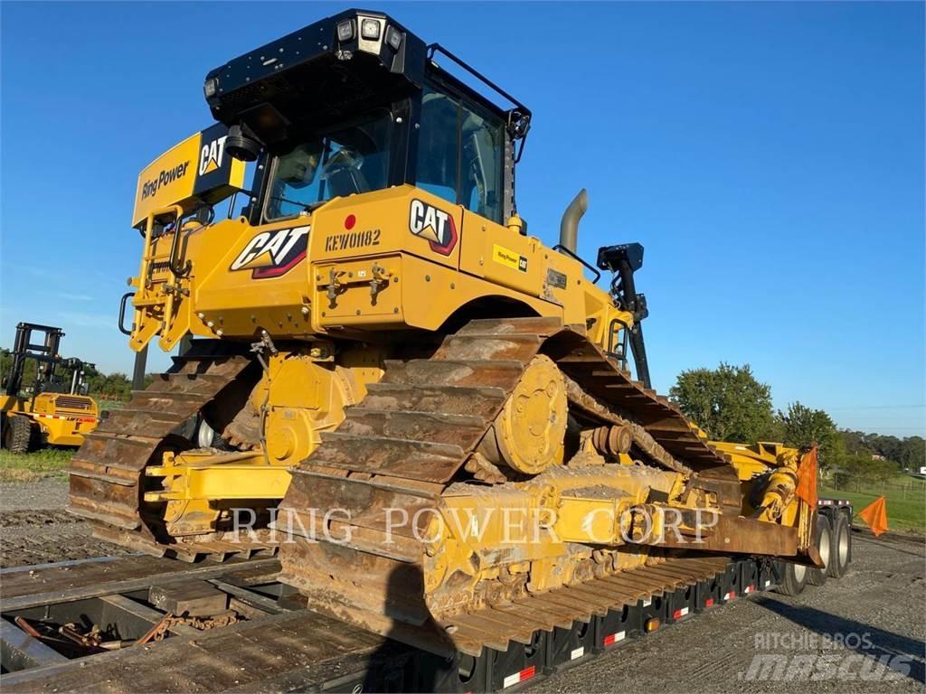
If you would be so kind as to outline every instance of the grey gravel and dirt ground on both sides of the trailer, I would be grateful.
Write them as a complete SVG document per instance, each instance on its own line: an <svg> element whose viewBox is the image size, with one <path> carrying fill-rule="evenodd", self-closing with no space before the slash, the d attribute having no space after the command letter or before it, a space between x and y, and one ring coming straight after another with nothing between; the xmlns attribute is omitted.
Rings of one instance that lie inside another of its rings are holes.
<svg viewBox="0 0 926 694"><path fill-rule="evenodd" d="M0 485L2 565L124 553L63 510L65 482ZM856 534L851 570L796 598L733 602L527 688L549 692L926 691L926 545Z"/></svg>

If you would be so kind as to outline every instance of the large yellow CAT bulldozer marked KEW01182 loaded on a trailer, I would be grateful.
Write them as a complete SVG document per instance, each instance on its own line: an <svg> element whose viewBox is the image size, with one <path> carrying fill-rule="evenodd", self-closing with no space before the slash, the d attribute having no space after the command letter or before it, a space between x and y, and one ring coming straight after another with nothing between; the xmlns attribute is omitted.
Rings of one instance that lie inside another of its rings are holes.
<svg viewBox="0 0 926 694"><path fill-rule="evenodd" d="M204 93L218 122L139 177L119 319L136 352L194 339L70 466L98 536L279 548L310 608L438 653L518 638L532 596L669 580L670 559L781 557L794 590L826 564L796 493L812 461L726 451L651 389L643 247L580 257L584 191L556 244L529 233L514 96L362 10Z"/></svg>

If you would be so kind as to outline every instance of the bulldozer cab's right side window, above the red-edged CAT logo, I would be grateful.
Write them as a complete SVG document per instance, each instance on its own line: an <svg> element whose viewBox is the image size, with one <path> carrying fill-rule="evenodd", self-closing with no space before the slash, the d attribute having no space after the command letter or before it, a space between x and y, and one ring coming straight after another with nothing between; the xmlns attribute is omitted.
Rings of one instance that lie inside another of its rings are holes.
<svg viewBox="0 0 926 694"><path fill-rule="evenodd" d="M504 130L462 100L425 88L417 180L422 190L502 221Z"/></svg>

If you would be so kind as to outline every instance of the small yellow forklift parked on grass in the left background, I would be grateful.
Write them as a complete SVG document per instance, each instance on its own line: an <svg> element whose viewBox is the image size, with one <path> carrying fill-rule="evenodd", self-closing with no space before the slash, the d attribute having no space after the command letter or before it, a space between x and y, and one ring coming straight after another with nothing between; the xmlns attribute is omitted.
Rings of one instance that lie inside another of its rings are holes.
<svg viewBox="0 0 926 694"><path fill-rule="evenodd" d="M99 423L99 409L86 394L88 365L73 357L62 358L61 328L19 323L9 353L9 369L0 394L3 447L14 453L44 445L80 446L83 437ZM24 385L27 365L34 363L34 378Z"/></svg>

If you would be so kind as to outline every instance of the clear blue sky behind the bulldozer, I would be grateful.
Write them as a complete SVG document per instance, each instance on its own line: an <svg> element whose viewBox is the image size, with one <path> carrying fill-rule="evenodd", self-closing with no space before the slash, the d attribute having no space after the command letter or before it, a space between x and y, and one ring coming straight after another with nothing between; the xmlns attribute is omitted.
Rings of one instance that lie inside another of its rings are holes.
<svg viewBox="0 0 926 694"><path fill-rule="evenodd" d="M2 3L0 344L45 321L130 370L138 172L211 122L210 68L344 7ZM748 362L780 407L923 433L922 4L376 7L531 106L532 234L585 186L582 254L644 243L658 390Z"/></svg>

